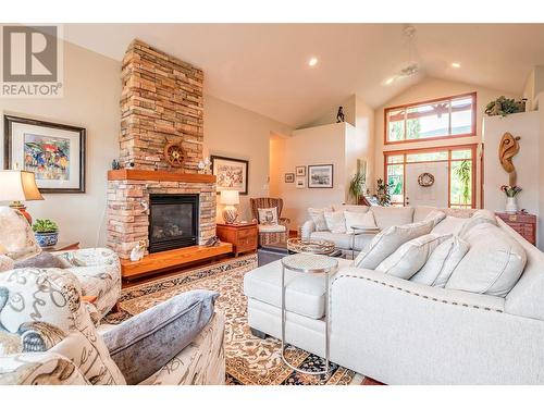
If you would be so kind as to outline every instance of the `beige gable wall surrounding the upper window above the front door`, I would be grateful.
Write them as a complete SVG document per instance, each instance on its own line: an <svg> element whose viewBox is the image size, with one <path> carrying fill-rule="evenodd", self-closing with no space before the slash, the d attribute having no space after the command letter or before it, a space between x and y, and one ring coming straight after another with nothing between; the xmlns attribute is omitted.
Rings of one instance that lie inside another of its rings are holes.
<svg viewBox="0 0 544 408"><path fill-rule="evenodd" d="M428 140L415 141L395 145L384 145L384 109L398 104L412 103L429 99L449 97L454 95L477 92L477 135L473 137L452 138L450 140ZM463 84L437 78L425 78L421 83L410 87L406 91L397 95L387 103L375 110L375 162L374 162L374 184L375 178L384 176L383 152L404 150L404 149L420 149L426 147L440 146L457 146L468 144L480 144L482 141L482 120L487 102L498 98L499 96L507 98L520 98L520 95L511 95L500 90L489 89L477 85ZM477 160L477 185L480 185L480 160ZM480 188L477 188L477 206L480 206ZM486 205L485 205L486 207Z"/></svg>

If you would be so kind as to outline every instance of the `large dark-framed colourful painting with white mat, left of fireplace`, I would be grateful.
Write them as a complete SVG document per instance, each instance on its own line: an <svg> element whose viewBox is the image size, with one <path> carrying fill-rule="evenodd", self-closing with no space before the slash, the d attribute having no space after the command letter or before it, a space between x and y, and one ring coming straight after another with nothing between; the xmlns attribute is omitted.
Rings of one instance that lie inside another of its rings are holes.
<svg viewBox="0 0 544 408"><path fill-rule="evenodd" d="M85 193L84 127L4 115L3 168L36 174L41 193Z"/></svg>

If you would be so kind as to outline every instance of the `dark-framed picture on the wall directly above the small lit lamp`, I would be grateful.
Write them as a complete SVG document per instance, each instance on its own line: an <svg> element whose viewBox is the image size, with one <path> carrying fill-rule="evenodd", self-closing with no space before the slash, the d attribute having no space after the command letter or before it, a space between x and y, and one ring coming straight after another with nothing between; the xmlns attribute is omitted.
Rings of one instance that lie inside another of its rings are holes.
<svg viewBox="0 0 544 408"><path fill-rule="evenodd" d="M221 156L211 156L210 159L212 174L218 177L218 193L233 189L240 195L247 195L249 161Z"/></svg>

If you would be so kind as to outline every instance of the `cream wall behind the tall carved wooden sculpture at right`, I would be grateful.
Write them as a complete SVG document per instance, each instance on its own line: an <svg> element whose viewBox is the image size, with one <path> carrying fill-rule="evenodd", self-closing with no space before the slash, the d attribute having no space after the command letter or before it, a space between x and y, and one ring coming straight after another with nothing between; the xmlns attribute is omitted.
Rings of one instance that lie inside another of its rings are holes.
<svg viewBox="0 0 544 408"><path fill-rule="evenodd" d="M539 214L540 195L540 112L514 113L508 116L487 116L483 122L485 144L484 156L484 202L492 211L504 211L505 194L502 185L508 185L508 173L498 160L498 146L506 132L520 136L520 150L512 159L516 166L517 185L523 188L518 195L518 206Z"/></svg>

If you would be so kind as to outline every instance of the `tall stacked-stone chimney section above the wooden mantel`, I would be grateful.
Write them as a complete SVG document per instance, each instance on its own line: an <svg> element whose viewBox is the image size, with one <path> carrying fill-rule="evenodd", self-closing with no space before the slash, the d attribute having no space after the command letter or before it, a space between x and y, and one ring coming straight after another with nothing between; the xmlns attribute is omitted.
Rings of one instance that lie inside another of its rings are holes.
<svg viewBox="0 0 544 408"><path fill-rule="evenodd" d="M203 154L202 71L134 40L121 75L121 164L195 173ZM183 168L164 160L165 145L174 141L182 143Z"/></svg>

